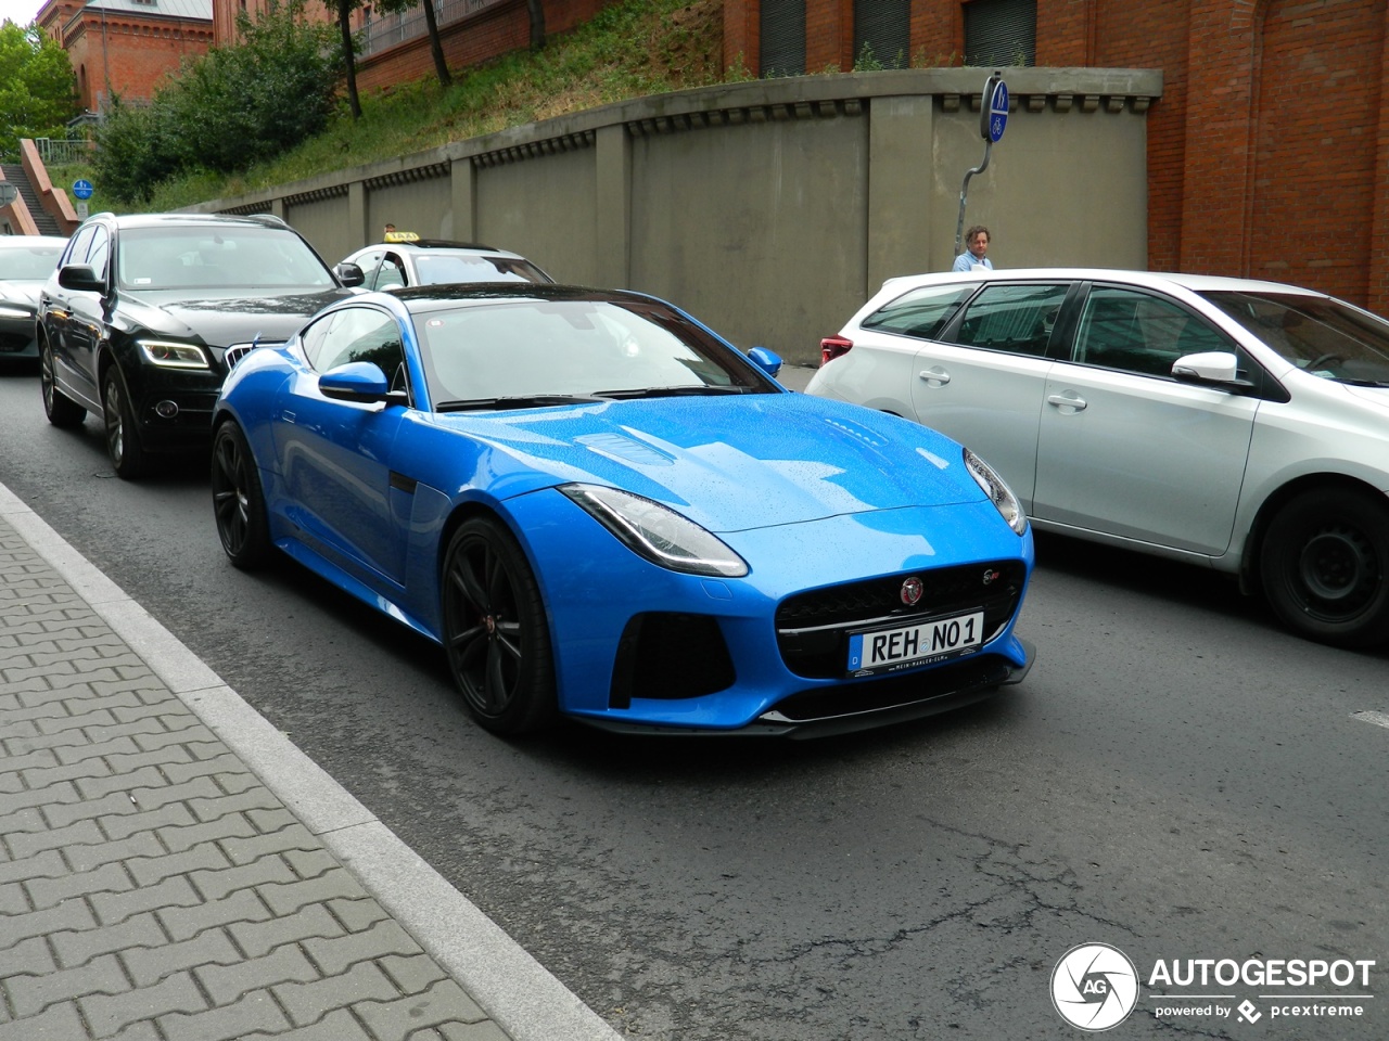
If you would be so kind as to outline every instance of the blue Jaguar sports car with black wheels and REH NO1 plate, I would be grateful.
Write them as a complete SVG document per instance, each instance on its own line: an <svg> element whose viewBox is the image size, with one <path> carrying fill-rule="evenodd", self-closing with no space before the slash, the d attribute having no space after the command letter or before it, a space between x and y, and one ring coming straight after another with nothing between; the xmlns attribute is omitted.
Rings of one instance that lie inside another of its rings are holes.
<svg viewBox="0 0 1389 1041"><path fill-rule="evenodd" d="M1018 682L1013 493L779 365L636 293L351 297L228 376L217 530L438 641L500 734L845 731Z"/></svg>

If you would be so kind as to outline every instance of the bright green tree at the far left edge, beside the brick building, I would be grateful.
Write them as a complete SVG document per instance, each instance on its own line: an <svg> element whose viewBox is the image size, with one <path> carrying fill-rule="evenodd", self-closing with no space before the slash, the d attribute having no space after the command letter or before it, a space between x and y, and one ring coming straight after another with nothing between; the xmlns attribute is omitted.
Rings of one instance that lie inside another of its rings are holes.
<svg viewBox="0 0 1389 1041"><path fill-rule="evenodd" d="M0 25L0 155L17 155L21 137L65 137L76 114L67 51L32 25Z"/></svg>

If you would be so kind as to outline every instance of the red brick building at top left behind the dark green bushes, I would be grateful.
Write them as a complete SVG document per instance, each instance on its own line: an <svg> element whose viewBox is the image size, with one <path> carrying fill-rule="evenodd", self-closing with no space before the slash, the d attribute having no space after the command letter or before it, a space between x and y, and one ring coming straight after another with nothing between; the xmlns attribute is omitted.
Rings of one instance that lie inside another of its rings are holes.
<svg viewBox="0 0 1389 1041"><path fill-rule="evenodd" d="M113 93L149 99L183 58L213 44L213 0L49 0L35 21L68 53L90 111Z"/></svg>

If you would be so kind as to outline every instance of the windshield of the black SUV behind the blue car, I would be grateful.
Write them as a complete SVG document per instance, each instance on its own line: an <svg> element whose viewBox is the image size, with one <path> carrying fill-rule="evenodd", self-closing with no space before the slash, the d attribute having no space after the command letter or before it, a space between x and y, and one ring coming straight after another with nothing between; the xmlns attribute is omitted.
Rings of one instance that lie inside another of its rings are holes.
<svg viewBox="0 0 1389 1041"><path fill-rule="evenodd" d="M303 239L257 225L126 228L122 289L331 289L336 283Z"/></svg>

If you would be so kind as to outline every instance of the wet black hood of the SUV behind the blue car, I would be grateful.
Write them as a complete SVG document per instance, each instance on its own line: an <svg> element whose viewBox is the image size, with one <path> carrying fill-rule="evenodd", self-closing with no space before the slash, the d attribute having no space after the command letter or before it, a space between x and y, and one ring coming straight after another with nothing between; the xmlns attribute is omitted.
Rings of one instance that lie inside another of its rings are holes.
<svg viewBox="0 0 1389 1041"><path fill-rule="evenodd" d="M132 329L147 329L181 339L199 337L225 347L260 336L279 341L335 300L351 296L347 289L300 290L278 296L199 296L172 290L122 293L118 316Z"/></svg>

